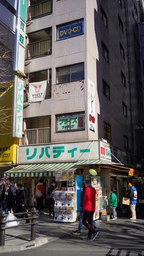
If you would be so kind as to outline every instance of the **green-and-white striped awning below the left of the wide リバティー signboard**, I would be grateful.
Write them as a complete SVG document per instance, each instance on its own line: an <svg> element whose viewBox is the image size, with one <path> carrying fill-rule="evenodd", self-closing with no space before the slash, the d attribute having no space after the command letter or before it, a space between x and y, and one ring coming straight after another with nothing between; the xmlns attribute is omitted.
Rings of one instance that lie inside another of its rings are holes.
<svg viewBox="0 0 144 256"><path fill-rule="evenodd" d="M5 172L9 177L52 177L54 172L60 170L74 170L76 163L54 163L54 164L20 164Z"/></svg>

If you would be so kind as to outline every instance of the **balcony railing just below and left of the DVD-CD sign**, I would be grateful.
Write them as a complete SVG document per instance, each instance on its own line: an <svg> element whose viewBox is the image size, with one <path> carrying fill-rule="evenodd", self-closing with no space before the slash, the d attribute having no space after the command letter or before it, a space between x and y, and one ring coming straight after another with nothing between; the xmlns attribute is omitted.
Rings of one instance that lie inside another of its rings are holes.
<svg viewBox="0 0 144 256"><path fill-rule="evenodd" d="M27 58L40 57L51 54L51 39L29 43L27 45Z"/></svg>

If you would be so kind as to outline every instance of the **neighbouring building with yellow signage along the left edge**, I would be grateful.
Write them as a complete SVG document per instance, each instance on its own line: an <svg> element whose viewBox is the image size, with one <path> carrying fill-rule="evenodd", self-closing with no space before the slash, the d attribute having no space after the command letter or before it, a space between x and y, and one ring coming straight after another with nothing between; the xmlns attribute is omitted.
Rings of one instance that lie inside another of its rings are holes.
<svg viewBox="0 0 144 256"><path fill-rule="evenodd" d="M16 0L0 0L0 177L16 164L18 139L10 137ZM2 122L3 121L3 122Z"/></svg>

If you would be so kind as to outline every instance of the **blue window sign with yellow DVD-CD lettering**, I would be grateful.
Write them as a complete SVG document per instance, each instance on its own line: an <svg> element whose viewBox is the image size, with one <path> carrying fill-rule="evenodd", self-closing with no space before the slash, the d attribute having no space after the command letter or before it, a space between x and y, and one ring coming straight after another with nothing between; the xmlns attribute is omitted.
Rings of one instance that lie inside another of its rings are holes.
<svg viewBox="0 0 144 256"><path fill-rule="evenodd" d="M57 40L63 40L84 34L84 20L72 21L57 26Z"/></svg>

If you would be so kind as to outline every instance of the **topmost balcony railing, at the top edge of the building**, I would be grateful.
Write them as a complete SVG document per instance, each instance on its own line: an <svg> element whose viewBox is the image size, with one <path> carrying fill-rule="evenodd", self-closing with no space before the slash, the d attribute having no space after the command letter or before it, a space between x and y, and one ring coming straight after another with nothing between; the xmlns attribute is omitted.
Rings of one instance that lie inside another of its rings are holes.
<svg viewBox="0 0 144 256"><path fill-rule="evenodd" d="M52 13L52 0L29 6L28 20Z"/></svg>

